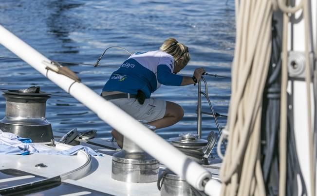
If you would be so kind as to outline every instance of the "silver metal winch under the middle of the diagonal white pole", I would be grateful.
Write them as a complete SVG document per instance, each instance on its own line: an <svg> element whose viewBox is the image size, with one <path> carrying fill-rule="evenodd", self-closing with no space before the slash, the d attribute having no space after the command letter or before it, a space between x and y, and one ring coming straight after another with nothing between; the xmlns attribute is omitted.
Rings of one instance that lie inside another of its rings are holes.
<svg viewBox="0 0 317 196"><path fill-rule="evenodd" d="M155 127L147 126L155 129ZM112 179L148 183L158 179L160 163L130 139L124 137L123 148L112 155Z"/></svg>

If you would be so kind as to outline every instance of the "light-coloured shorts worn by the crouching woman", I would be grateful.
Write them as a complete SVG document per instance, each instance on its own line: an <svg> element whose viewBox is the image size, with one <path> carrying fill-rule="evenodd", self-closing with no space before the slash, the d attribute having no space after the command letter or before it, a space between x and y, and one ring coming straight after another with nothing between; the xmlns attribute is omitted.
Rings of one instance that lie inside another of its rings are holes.
<svg viewBox="0 0 317 196"><path fill-rule="evenodd" d="M143 105L135 98L117 98L109 100L137 120L148 122L163 118L166 111L166 101L146 98Z"/></svg>

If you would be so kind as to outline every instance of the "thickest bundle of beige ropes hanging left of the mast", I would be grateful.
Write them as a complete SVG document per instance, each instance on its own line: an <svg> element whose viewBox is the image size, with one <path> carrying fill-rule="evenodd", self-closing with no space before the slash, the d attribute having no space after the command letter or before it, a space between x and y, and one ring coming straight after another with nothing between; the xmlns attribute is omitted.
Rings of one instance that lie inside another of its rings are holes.
<svg viewBox="0 0 317 196"><path fill-rule="evenodd" d="M223 196L265 196L261 171L262 94L271 55L272 2L240 0L228 147L221 169Z"/></svg>

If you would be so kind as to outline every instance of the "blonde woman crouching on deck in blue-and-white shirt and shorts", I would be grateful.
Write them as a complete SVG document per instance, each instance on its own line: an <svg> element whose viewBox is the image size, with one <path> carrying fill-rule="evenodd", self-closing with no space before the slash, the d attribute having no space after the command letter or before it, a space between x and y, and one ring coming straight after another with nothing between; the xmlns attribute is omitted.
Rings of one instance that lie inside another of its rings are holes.
<svg viewBox="0 0 317 196"><path fill-rule="evenodd" d="M136 52L114 71L101 96L137 120L156 129L171 126L184 116L183 108L173 102L150 98L161 84L184 86L199 82L205 70L195 69L193 77L176 75L190 60L188 47L174 38L165 40L160 50ZM112 130L119 147L123 135Z"/></svg>

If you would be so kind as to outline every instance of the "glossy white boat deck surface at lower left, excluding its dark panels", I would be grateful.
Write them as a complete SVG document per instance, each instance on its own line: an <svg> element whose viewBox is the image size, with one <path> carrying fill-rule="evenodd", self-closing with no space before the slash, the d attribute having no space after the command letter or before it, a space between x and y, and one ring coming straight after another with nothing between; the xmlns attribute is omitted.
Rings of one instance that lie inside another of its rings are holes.
<svg viewBox="0 0 317 196"><path fill-rule="evenodd" d="M91 147L92 145L88 146ZM56 147L54 148L62 150L67 147L72 146L57 143ZM94 146L93 148L95 150L97 149L100 153L103 153L104 156L89 157L83 151L77 153L77 155L74 156L46 154L32 154L24 156L0 155L0 169L17 169L33 174L35 176L42 176L45 178L60 176L62 182L85 187L109 195L160 196L160 191L157 188L157 182L128 183L113 180L111 178L112 154L116 151L96 146ZM35 165L39 163L43 163L47 165L47 167L36 167ZM220 163L215 163L207 166L208 170L213 173L213 178L218 179L219 166ZM166 167L164 165L161 165L160 168L162 171ZM32 177L25 176L20 178ZM89 193L89 191L87 193ZM80 195L80 193L77 194ZM82 192L82 194L84 194L84 192Z"/></svg>

